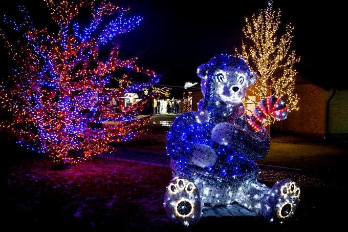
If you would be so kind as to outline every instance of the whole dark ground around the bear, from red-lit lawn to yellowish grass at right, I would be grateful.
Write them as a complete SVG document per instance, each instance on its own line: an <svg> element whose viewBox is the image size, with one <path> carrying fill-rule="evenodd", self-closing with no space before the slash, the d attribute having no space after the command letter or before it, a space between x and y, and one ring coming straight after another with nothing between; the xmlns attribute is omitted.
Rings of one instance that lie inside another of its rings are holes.
<svg viewBox="0 0 348 232"><path fill-rule="evenodd" d="M169 128L162 124L173 118L155 116L147 125L147 135L121 145L164 151ZM290 177L301 186L296 215L282 225L269 224L262 217L210 217L184 228L171 223L163 208L165 187L171 179L171 170L165 165L94 158L52 171L45 157L20 150L4 138L1 145L11 152L3 152L0 162L1 223L11 230L225 231L228 227L313 231L329 225L335 231L345 222L348 206L344 197L346 145L293 135L272 137L270 154L263 163L310 170L261 170L260 180L268 185Z"/></svg>

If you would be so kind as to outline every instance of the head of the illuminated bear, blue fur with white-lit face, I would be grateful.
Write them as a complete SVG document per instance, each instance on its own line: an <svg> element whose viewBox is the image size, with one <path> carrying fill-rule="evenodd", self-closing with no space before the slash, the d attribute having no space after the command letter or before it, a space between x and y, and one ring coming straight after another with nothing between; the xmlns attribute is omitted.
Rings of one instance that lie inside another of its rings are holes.
<svg viewBox="0 0 348 232"><path fill-rule="evenodd" d="M224 54L213 57L198 67L197 75L201 78L204 96L198 104L199 117L202 116L203 121L208 117L205 114L219 112L226 115L237 107L243 114L242 101L257 76L242 58Z"/></svg>

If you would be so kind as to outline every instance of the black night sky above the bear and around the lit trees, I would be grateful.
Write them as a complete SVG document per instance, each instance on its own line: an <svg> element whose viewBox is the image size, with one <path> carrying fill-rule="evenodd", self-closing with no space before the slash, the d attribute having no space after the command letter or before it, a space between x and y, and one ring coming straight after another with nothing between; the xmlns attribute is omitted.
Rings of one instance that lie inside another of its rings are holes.
<svg viewBox="0 0 348 232"><path fill-rule="evenodd" d="M2 15L15 15L13 9L23 2L32 12L34 23L54 30L45 4L41 1L12 1L1 9ZM132 8L130 13L144 17L134 31L121 36L122 58L139 55L140 65L163 74L161 83L183 86L187 81L199 81L197 67L210 57L234 53L240 47L244 17L267 7L267 0L227 1L193 4L191 1L113 1ZM330 3L330 5L329 5ZM282 22L295 26L292 48L301 61L296 66L300 75L328 88L348 88L346 71L336 57L343 53L344 37L339 29L343 23L342 9L330 1L275 0ZM81 19L80 19L81 20ZM86 22L87 24L88 22ZM6 53L2 50L2 57ZM344 57L344 56L343 56ZM7 63L2 63L7 70ZM4 72L6 73L6 71Z"/></svg>

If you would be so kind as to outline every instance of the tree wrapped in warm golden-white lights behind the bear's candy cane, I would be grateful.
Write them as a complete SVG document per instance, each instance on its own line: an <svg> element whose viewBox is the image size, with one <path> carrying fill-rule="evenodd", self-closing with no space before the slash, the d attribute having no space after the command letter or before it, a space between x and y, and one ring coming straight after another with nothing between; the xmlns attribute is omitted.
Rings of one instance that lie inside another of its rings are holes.
<svg viewBox="0 0 348 232"><path fill-rule="evenodd" d="M298 97L294 93L297 74L294 65L299 57L290 48L294 27L288 24L285 33L279 34L280 10L272 9L272 1L258 15L246 17L245 22L243 33L247 43L243 42L241 52L237 49L235 52L258 76L256 85L250 90L260 98L266 98L272 92L272 95L286 101L289 112L298 110ZM271 122L270 119L266 123Z"/></svg>

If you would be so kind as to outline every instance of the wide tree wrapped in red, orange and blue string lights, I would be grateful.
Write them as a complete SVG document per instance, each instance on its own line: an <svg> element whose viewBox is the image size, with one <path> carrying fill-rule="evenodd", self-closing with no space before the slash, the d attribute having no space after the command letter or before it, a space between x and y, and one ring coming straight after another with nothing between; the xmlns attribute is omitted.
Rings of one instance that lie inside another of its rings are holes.
<svg viewBox="0 0 348 232"><path fill-rule="evenodd" d="M137 57L119 58L118 35L135 29L142 17L127 16L128 8L102 1L44 0L57 31L35 28L24 7L23 22L5 16L18 36L11 43L10 33L1 29L5 47L13 58L13 73L1 84L1 107L12 113L0 129L18 137L18 143L46 153L55 163L74 163L109 151L111 141L125 141L143 131L149 117L137 117L143 105L154 97L152 85L159 81L155 72L138 67ZM75 19L82 8L91 10L86 27ZM111 18L110 22L103 19ZM12 33L12 32L11 32ZM108 49L106 55L100 49ZM127 71L129 75L121 75ZM142 82L130 82L139 73ZM119 75L117 88L106 88L110 78ZM147 95L131 107L121 104L126 93ZM110 101L117 102L112 105ZM113 123L103 123L113 121ZM72 156L71 151L83 151Z"/></svg>

